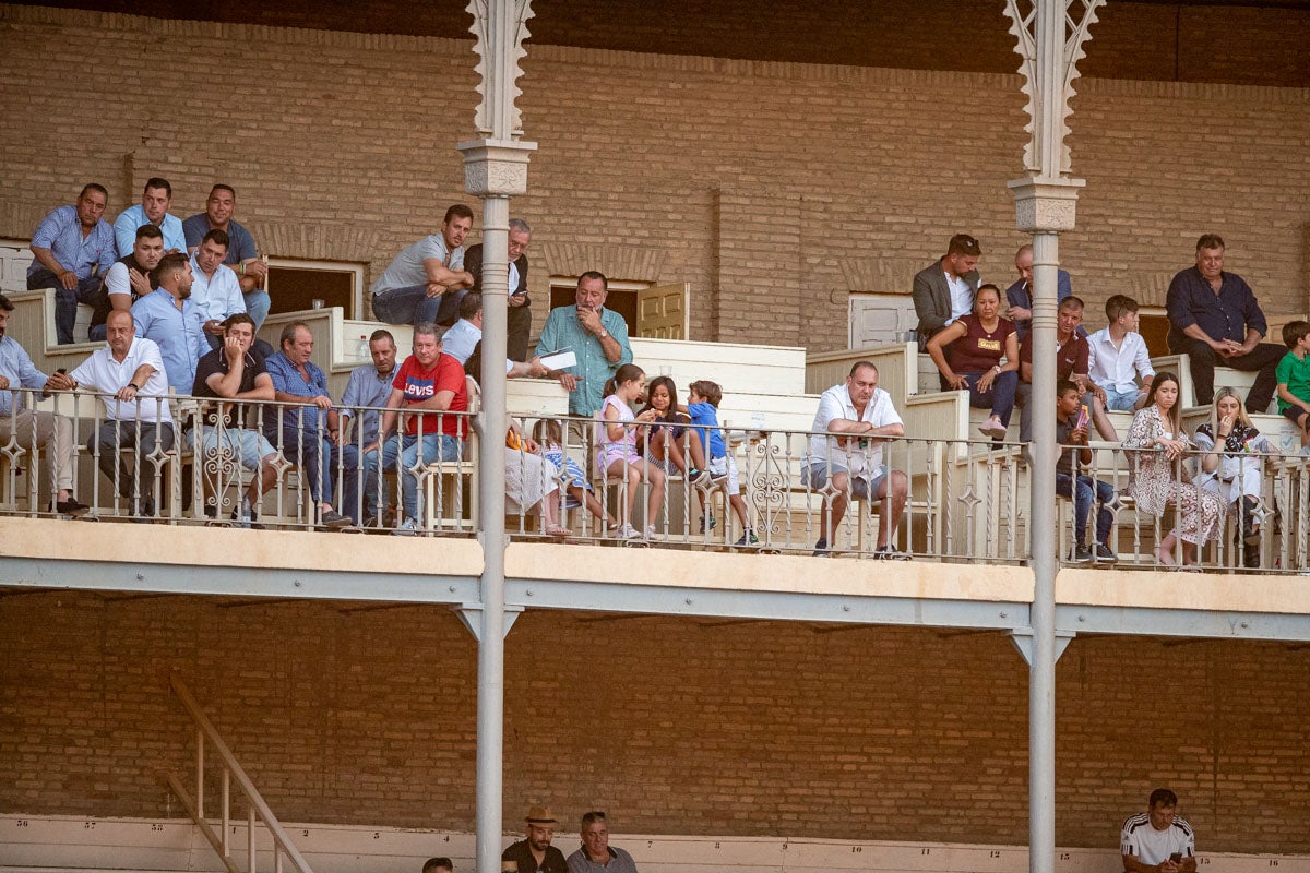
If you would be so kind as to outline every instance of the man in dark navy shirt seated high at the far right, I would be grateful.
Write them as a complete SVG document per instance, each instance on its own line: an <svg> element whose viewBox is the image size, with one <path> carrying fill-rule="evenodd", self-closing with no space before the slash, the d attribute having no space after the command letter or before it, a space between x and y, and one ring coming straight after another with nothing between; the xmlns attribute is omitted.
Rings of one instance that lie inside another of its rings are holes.
<svg viewBox="0 0 1310 873"><path fill-rule="evenodd" d="M1214 368L1259 372L1250 394L1247 412L1264 412L1273 398L1276 370L1285 349L1262 343L1269 326L1241 276L1224 272L1224 240L1207 233L1196 241L1196 266L1188 267L1169 284L1165 306L1169 312L1169 348L1191 359L1196 404L1214 399Z"/></svg>

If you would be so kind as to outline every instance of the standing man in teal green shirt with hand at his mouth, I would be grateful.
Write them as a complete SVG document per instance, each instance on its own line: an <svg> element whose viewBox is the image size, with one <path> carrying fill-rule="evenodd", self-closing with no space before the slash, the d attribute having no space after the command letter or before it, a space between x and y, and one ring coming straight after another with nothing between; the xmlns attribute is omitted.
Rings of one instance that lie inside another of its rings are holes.
<svg viewBox="0 0 1310 873"><path fill-rule="evenodd" d="M576 365L549 373L569 391L570 415L595 415L605 401L605 382L633 361L627 322L605 309L608 296L609 280L588 270L578 277L578 302L550 310L537 340L537 357L558 351L578 357Z"/></svg>

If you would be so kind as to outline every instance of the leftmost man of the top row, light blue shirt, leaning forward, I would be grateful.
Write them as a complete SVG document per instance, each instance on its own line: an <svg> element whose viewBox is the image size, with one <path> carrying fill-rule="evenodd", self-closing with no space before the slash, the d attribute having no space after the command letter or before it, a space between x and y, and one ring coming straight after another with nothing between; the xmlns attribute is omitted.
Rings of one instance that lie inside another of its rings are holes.
<svg viewBox="0 0 1310 873"><path fill-rule="evenodd" d="M42 219L31 234L28 291L55 289L55 334L60 346L73 342L77 304L96 305L103 274L114 263L114 229L105 221L109 191L92 182L77 203Z"/></svg>

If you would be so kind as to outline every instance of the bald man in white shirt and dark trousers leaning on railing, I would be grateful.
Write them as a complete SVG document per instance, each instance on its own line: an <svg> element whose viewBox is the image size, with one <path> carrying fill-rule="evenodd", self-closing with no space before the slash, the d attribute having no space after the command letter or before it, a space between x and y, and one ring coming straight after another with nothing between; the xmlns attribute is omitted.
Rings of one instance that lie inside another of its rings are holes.
<svg viewBox="0 0 1310 873"><path fill-rule="evenodd" d="M136 520L155 516L152 495L166 486L155 476L159 461L173 448L173 414L168 407L164 359L155 342L135 335L132 313L117 309L105 322L107 346L96 349L72 373L51 377L55 387L105 394L105 421L86 437L86 450L96 455L100 471L128 501ZM58 380L58 381L56 381ZM134 449L124 457L121 449ZM156 479L144 493L139 474Z"/></svg>

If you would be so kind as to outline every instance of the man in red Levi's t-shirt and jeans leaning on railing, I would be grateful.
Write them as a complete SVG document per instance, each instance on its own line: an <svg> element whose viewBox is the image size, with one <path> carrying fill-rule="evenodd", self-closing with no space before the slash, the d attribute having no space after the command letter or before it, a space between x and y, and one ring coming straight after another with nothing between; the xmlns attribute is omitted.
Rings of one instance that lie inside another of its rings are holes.
<svg viewBox="0 0 1310 873"><path fill-rule="evenodd" d="M468 433L468 416L451 415L469 408L464 368L455 357L441 353L441 332L431 322L414 326L414 353L405 359L392 382L377 441L363 450L365 482L376 475L371 475L371 470L377 463L379 448L383 469L396 469L405 518L393 533L406 537L419 530L423 514L419 478L411 470L439 461L457 461ZM401 419L400 432L393 435L397 418Z"/></svg>

